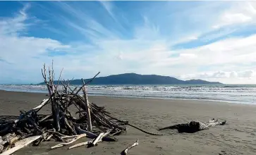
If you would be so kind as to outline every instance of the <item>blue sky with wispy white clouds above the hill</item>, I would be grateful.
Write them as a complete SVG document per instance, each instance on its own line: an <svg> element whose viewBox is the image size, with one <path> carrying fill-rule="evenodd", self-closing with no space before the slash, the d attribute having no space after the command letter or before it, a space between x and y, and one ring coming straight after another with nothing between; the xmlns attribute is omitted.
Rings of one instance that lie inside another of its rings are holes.
<svg viewBox="0 0 256 155"><path fill-rule="evenodd" d="M256 84L256 1L0 1L0 83L121 73Z"/></svg>

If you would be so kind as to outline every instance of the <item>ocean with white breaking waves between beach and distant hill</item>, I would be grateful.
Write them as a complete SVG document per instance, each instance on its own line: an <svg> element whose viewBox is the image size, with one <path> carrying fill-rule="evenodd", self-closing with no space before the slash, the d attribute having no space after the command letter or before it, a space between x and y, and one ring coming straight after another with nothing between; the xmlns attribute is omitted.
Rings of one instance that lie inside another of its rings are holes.
<svg viewBox="0 0 256 155"><path fill-rule="evenodd" d="M79 85L71 85L71 88ZM0 85L0 89L47 93L45 85ZM59 87L59 89L63 89ZM88 85L88 94L106 97L193 99L256 104L256 85ZM82 91L81 91L82 92Z"/></svg>

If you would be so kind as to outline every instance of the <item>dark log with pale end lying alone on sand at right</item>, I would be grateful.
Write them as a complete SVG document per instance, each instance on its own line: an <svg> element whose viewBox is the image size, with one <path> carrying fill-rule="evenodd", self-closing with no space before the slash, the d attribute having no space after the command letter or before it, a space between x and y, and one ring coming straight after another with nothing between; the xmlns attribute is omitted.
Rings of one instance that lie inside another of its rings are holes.
<svg viewBox="0 0 256 155"><path fill-rule="evenodd" d="M165 128L160 128L159 130L166 130L166 129L176 129L178 132L187 132L193 133L200 130L207 130L209 127L214 127L216 125L224 125L226 124L226 120L219 122L218 120L209 120L208 123L202 123L200 121L190 121L188 123L181 123L176 125L171 125Z"/></svg>

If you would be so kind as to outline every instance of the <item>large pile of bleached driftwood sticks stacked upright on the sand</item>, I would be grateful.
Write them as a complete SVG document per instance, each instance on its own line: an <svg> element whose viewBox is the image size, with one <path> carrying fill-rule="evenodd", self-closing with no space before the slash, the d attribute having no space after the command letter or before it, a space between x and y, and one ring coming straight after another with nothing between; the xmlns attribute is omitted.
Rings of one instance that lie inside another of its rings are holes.
<svg viewBox="0 0 256 155"><path fill-rule="evenodd" d="M11 120L0 120L0 154L12 154L14 151L33 143L39 145L42 141L57 140L62 142L51 149L71 144L81 137L88 137L92 140L75 144L68 149L87 145L93 147L98 142L116 142L114 135L126 132L128 122L118 120L110 116L103 106L97 106L88 101L86 85L99 74L95 75L88 82L83 81L83 86L71 89L69 82L61 80L54 83L54 70L47 69L44 65L42 76L49 91L49 98L44 99L39 106L29 111L20 111L20 116ZM62 73L62 70L61 70ZM59 83L63 89L59 90ZM83 91L83 96L79 94ZM44 107L51 108L48 115L40 115L39 111ZM77 118L73 116L70 107L77 109ZM79 116L78 116L79 115ZM135 142L138 145L138 141ZM133 146L134 147L134 146ZM122 154L127 154L124 150Z"/></svg>

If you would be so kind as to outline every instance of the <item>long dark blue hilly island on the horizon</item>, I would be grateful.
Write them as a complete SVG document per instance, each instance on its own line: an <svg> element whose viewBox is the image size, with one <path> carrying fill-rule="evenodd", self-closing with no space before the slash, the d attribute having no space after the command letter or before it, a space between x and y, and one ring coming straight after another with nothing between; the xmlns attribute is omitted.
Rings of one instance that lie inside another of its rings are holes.
<svg viewBox="0 0 256 155"><path fill-rule="evenodd" d="M87 82L90 79L86 79ZM57 81L54 81L56 83ZM82 81L71 80L71 85L82 85ZM178 80L175 77L160 75L140 75L135 73L125 73L118 75L109 75L106 77L96 77L90 85L207 85L221 84L220 82L208 82L205 80ZM44 85L44 82L38 85Z"/></svg>

